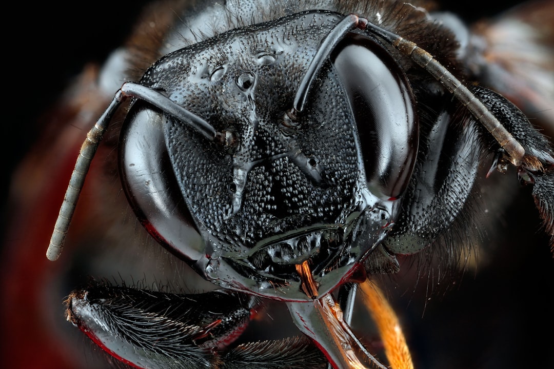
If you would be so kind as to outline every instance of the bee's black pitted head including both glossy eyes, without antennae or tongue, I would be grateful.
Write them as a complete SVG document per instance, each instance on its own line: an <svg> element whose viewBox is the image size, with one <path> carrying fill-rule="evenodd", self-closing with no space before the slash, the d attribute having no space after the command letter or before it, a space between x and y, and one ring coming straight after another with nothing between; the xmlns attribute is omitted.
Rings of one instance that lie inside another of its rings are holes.
<svg viewBox="0 0 554 369"><path fill-rule="evenodd" d="M341 19L293 14L177 50L146 71L142 85L225 132L228 144L140 103L122 128L119 167L135 212L162 244L224 288L307 300L295 267L305 261L321 295L336 288L397 218L414 166L413 94L375 41L348 37L338 45L334 66L318 72L321 81L293 117L297 91L332 28L312 27L312 18L331 26ZM307 31L283 39L291 28ZM357 69L358 81L348 81L346 70ZM379 137L375 144L362 144L358 123ZM182 235L192 227L204 242L191 247Z"/></svg>

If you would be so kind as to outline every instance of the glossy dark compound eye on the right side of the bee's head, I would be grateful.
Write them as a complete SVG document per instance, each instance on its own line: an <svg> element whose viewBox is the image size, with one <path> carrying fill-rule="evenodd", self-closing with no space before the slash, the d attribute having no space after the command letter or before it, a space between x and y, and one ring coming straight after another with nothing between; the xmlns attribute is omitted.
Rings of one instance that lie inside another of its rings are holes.
<svg viewBox="0 0 554 369"><path fill-rule="evenodd" d="M331 60L356 121L368 186L381 199L397 199L409 183L418 149L408 79L381 45L355 35L337 45Z"/></svg>

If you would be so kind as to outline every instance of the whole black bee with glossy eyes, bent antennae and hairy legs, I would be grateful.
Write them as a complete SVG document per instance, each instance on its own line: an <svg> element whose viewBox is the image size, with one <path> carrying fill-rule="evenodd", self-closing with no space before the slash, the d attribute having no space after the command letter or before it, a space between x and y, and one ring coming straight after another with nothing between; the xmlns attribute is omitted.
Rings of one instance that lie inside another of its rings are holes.
<svg viewBox="0 0 554 369"><path fill-rule="evenodd" d="M552 148L478 83L454 19L396 1L179 9L150 54L112 57L159 54L90 131L48 251L59 256L102 134L128 103L116 127L126 198L220 289L72 292L68 320L122 363L385 367L350 329L357 284L398 272L403 255L459 258L496 169L532 186L552 243ZM308 338L232 346L266 299Z"/></svg>

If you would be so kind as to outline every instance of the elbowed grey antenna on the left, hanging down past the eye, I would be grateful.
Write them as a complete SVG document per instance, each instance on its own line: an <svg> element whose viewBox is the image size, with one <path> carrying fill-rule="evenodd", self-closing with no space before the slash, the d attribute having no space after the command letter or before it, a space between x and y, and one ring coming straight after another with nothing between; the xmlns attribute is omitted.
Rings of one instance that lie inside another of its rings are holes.
<svg viewBox="0 0 554 369"><path fill-rule="evenodd" d="M85 183L86 173L89 171L90 163L93 160L96 149L98 149L102 135L106 132L108 124L114 116L117 108L119 108L121 103L129 97L139 98L140 100L144 100L151 105L160 108L168 115L175 117L179 119L179 121L188 124L191 128L196 129L196 131L203 134L203 136L208 138L210 141L217 140L218 142L225 144L232 139L232 137L229 138L232 136L229 132L216 132L216 129L208 122L204 121L204 119L194 115L192 112L189 112L182 106L171 101L160 92L140 84L126 82L121 86L121 89L115 93L114 99L106 108L106 111L102 113L102 116L98 119L94 127L88 134L86 134L85 142L83 142L83 145L81 146L79 156L75 163L75 169L73 169L73 174L71 174L71 178L69 180L68 189L65 192L64 201L61 204L60 214L58 215L58 219L54 226L52 238L50 238L50 245L48 246L48 250L46 252L46 257L49 260L54 261L58 259L61 254L65 235L68 232L69 224L71 222L71 217L73 217L75 206L77 205L81 189L83 189L83 184Z"/></svg>

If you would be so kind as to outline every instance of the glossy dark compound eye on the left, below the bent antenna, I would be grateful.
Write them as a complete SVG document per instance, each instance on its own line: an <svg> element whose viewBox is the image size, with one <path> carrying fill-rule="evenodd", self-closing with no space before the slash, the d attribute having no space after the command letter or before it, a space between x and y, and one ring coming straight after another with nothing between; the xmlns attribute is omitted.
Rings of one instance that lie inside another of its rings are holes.
<svg viewBox="0 0 554 369"><path fill-rule="evenodd" d="M204 242L181 195L163 135L165 116L137 101L119 143L119 170L137 218L161 245L184 259L198 260Z"/></svg>

